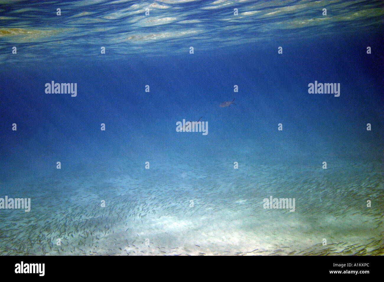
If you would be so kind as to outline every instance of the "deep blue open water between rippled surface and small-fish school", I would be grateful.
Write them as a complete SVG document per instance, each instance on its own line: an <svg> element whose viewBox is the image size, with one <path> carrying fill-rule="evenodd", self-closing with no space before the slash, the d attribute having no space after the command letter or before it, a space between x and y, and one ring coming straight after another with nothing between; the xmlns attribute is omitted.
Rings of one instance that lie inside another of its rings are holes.
<svg viewBox="0 0 384 282"><path fill-rule="evenodd" d="M185 144L208 150L223 143L266 151L289 147L298 153L325 146L376 158L384 132L381 41L375 39L370 44L368 39L322 38L312 45L285 45L283 54L268 44L167 59L6 65L1 78L2 156L14 157L19 150L35 158L79 152L93 156L127 147L174 149L177 154L180 146L188 150ZM374 54L366 54L367 45ZM45 83L52 80L77 82L77 96L45 94ZM340 96L308 94L308 84L315 80L340 83ZM236 105L218 107L232 99ZM209 122L207 135L180 137L175 131L177 121L201 116ZM13 122L17 134L9 132ZM281 135L276 134L279 123Z"/></svg>

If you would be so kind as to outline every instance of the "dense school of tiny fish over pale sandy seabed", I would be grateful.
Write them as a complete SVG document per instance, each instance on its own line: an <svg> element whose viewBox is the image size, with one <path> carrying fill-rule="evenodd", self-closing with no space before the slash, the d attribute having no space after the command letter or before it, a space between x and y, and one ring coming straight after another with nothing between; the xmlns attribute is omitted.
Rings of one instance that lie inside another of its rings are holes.
<svg viewBox="0 0 384 282"><path fill-rule="evenodd" d="M0 254L384 254L380 163L324 176L261 160L236 170L225 168L232 160L157 161L146 170L116 159L17 183L15 193L33 191L31 211L1 211ZM269 195L296 198L295 212L263 209Z"/></svg>

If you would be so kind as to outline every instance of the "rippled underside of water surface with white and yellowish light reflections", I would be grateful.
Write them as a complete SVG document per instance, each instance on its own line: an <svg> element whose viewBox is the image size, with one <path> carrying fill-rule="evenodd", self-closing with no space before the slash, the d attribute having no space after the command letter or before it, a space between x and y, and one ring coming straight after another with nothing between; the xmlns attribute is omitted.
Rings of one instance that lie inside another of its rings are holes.
<svg viewBox="0 0 384 282"><path fill-rule="evenodd" d="M381 1L359 0L1 1L0 62L97 56L101 46L118 58L369 32L382 25L383 14Z"/></svg>

